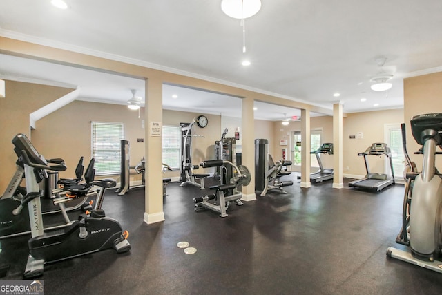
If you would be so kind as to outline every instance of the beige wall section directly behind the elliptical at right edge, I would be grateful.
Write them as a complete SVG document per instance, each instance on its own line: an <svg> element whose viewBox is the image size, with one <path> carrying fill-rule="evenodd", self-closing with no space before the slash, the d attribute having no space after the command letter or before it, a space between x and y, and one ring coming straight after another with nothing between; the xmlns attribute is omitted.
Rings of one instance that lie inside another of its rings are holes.
<svg viewBox="0 0 442 295"><path fill-rule="evenodd" d="M410 119L414 115L427 113L442 113L442 73L434 73L419 77L404 79L404 119L407 127L407 150L412 161L416 162L419 171L422 171L422 155L414 155L419 146L414 140ZM442 157L436 157L436 167L442 170Z"/></svg>

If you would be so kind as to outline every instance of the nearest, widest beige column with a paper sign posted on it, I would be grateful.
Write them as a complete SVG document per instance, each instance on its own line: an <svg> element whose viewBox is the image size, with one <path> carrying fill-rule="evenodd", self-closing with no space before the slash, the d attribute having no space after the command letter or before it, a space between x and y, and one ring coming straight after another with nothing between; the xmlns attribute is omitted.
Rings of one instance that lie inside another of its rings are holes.
<svg viewBox="0 0 442 295"><path fill-rule="evenodd" d="M144 222L148 225L164 221L162 187L162 120L163 84L159 79L146 80L146 104L144 114L146 122L146 188Z"/></svg>

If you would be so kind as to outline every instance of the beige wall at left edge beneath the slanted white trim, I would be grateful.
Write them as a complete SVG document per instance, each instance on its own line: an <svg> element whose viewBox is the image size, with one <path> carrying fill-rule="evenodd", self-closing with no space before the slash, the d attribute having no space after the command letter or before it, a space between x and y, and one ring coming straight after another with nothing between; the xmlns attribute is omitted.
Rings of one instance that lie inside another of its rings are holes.
<svg viewBox="0 0 442 295"><path fill-rule="evenodd" d="M67 88L6 81L6 98L0 99L0 193L15 173L15 155L11 144L17 133L30 135L29 115L42 106L72 91ZM39 146L36 146L39 150ZM40 151L42 153L42 151Z"/></svg>

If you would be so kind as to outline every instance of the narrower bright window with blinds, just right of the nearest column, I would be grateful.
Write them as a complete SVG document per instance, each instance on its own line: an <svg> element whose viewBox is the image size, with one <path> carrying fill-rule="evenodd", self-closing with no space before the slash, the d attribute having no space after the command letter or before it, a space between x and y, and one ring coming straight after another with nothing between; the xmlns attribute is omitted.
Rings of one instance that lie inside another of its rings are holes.
<svg viewBox="0 0 442 295"><path fill-rule="evenodd" d="M171 169L180 169L181 162L181 127L163 126L163 158L164 164Z"/></svg>

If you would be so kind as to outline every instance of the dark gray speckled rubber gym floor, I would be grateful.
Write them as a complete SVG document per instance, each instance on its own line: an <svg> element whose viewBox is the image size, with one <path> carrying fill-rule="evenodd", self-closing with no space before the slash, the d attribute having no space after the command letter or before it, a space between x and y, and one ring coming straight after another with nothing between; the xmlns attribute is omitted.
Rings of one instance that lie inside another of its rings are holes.
<svg viewBox="0 0 442 295"><path fill-rule="evenodd" d="M144 189L109 191L104 209L130 232L131 253L46 265L45 294L441 294L442 274L385 255L401 227L402 185L302 189L291 176L287 194L231 205L227 218L193 210L209 191L171 183L166 221L154 225L143 222ZM26 241L3 240L3 279L21 279ZM197 252L184 254L181 241Z"/></svg>

